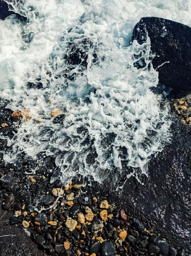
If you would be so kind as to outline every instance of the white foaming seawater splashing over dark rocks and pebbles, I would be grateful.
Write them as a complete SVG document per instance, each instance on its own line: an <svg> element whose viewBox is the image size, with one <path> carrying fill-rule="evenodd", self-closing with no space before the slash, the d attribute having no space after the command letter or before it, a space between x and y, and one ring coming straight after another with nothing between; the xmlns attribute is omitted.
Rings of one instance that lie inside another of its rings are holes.
<svg viewBox="0 0 191 256"><path fill-rule="evenodd" d="M0 20L0 98L32 118L7 138L12 150L4 160L26 152L43 165L54 156L52 182L147 175L150 157L170 141L171 117L166 92L152 91L158 72L150 40L131 42L132 30L144 16L191 25L190 1L6 2L25 20ZM140 56L146 67L137 69ZM64 113L62 122L53 122L53 109Z"/></svg>

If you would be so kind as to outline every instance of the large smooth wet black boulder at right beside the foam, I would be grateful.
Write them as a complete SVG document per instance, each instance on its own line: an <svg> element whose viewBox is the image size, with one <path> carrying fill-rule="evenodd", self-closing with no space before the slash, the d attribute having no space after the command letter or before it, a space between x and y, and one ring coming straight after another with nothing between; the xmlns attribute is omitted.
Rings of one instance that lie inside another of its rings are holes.
<svg viewBox="0 0 191 256"><path fill-rule="evenodd" d="M148 36L159 82L175 90L191 91L191 27L168 19L144 17L135 25L132 40L143 44ZM142 63L134 65L140 68Z"/></svg>

